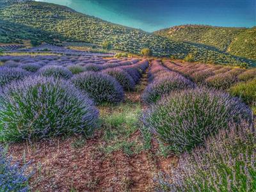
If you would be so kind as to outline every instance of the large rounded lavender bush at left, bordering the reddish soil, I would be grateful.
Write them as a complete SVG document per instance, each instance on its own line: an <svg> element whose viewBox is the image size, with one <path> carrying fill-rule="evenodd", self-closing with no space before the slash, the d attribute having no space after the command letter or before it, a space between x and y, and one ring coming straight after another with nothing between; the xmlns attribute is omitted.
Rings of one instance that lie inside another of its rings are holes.
<svg viewBox="0 0 256 192"><path fill-rule="evenodd" d="M3 89L0 141L36 140L74 133L90 134L98 111L88 96L68 81L28 77Z"/></svg>

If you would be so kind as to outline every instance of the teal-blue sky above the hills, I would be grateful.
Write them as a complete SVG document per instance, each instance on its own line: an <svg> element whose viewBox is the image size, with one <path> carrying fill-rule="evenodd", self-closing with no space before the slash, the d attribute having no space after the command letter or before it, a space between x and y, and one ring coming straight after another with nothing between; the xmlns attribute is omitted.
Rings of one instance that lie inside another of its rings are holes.
<svg viewBox="0 0 256 192"><path fill-rule="evenodd" d="M182 24L256 26L256 0L36 0L152 32Z"/></svg>

